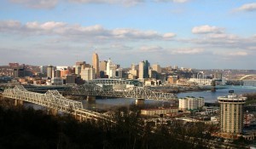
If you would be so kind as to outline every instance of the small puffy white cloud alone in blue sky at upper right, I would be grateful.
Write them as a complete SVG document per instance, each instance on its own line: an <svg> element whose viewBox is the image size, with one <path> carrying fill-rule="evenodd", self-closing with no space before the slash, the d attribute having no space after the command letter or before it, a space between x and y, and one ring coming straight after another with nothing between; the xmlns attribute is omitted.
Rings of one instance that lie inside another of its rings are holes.
<svg viewBox="0 0 256 149"><path fill-rule="evenodd" d="M192 29L192 33L195 34L206 34L206 33L218 33L218 32L222 32L222 29L217 27L217 26L195 26Z"/></svg>

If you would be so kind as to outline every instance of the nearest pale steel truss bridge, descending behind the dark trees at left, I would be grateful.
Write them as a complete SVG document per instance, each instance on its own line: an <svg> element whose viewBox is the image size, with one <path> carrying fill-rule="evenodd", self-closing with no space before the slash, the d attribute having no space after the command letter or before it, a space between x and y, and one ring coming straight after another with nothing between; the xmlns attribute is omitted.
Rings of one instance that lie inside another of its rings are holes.
<svg viewBox="0 0 256 149"><path fill-rule="evenodd" d="M15 104L23 101L48 107L50 110L66 112L74 115L79 120L102 119L113 122L111 117L98 112L91 112L83 108L82 102L68 100L63 97L57 90L49 90L45 94L27 91L23 86L16 85L14 89L4 89L3 97L15 100Z"/></svg>

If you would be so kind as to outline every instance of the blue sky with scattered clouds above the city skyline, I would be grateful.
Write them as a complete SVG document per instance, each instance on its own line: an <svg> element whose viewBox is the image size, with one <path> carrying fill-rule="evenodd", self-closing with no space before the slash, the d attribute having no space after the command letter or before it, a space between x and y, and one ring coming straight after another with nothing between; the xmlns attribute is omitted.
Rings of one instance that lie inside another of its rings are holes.
<svg viewBox="0 0 256 149"><path fill-rule="evenodd" d="M254 0L1 0L0 66L255 69Z"/></svg>

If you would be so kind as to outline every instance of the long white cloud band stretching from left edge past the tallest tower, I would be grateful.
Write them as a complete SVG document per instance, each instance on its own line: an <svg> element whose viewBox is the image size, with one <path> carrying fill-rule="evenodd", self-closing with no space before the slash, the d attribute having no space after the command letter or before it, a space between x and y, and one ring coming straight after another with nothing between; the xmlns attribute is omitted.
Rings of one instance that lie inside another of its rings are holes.
<svg viewBox="0 0 256 149"><path fill-rule="evenodd" d="M161 40L174 37L174 33L161 34L155 31L140 31L130 28L117 28L108 30L101 25L80 26L70 25L64 22L49 21L39 23L37 21L21 24L17 20L0 21L0 33L14 33L27 36L59 36L69 39L119 39L119 40Z"/></svg>

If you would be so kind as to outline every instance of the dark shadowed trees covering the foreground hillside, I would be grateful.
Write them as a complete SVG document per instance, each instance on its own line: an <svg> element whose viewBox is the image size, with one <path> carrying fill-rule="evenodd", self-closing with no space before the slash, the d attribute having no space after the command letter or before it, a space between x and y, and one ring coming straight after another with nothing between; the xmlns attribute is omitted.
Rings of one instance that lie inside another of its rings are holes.
<svg viewBox="0 0 256 149"><path fill-rule="evenodd" d="M114 111L116 123L79 122L70 115L52 116L32 107L0 103L0 148L210 148L214 131L204 123L173 120L160 127L145 122L137 106ZM213 143L213 142L212 142Z"/></svg>

